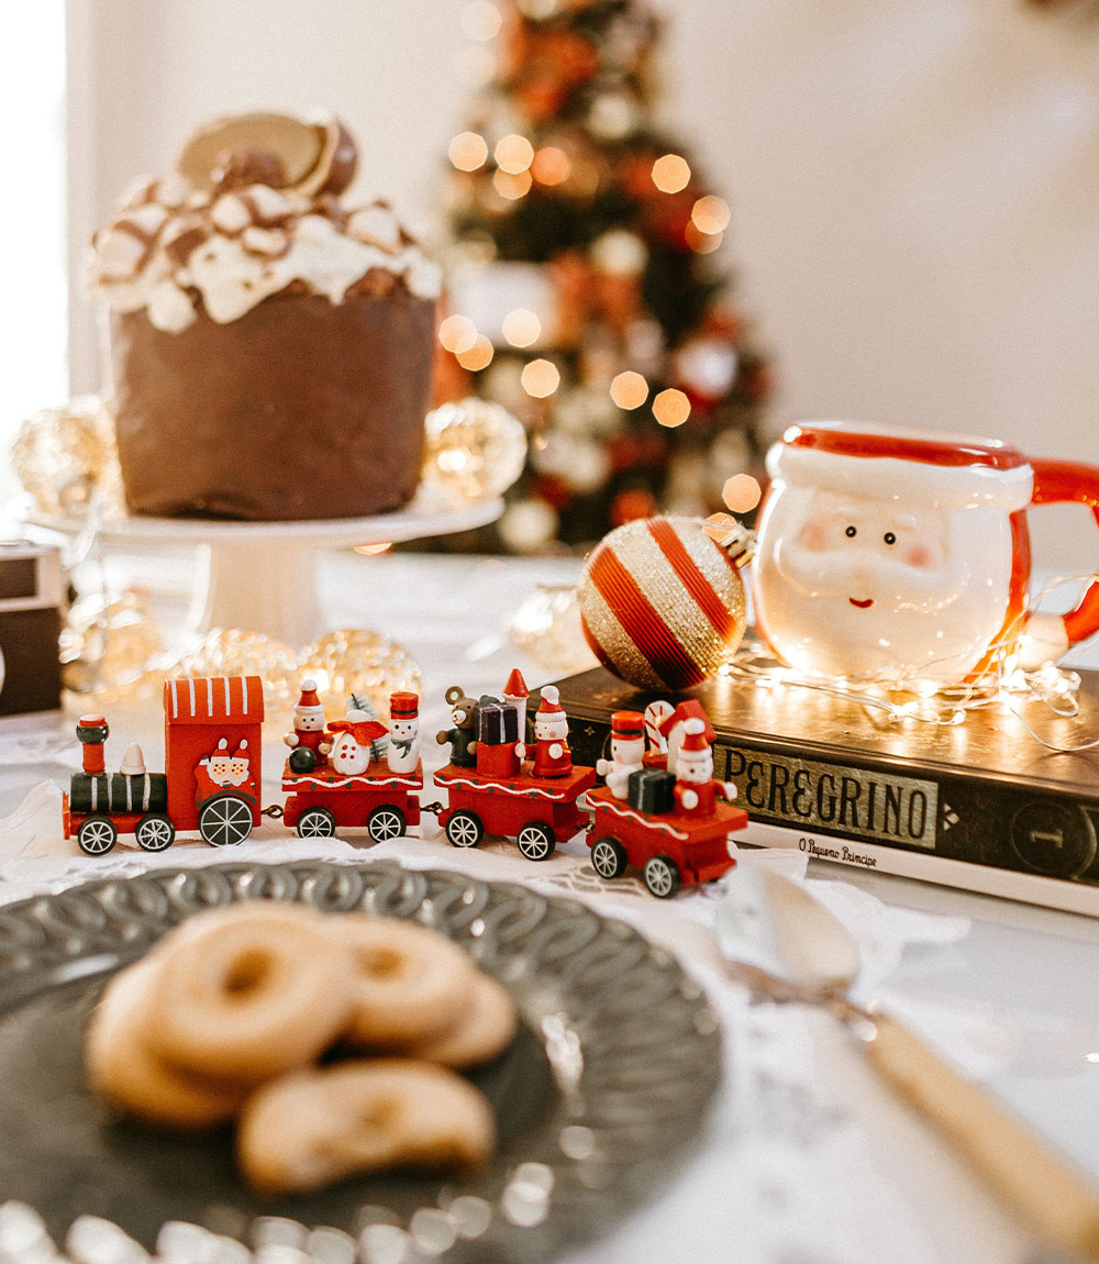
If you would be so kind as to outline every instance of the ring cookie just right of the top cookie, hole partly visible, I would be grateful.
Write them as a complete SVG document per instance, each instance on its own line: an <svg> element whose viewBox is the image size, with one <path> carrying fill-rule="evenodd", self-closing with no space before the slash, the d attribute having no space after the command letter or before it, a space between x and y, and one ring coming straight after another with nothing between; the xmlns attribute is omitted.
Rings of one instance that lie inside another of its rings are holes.
<svg viewBox="0 0 1099 1264"><path fill-rule="evenodd" d="M327 924L355 959L349 1044L403 1050L438 1036L469 1010L480 976L446 935L399 918L347 914Z"/></svg>

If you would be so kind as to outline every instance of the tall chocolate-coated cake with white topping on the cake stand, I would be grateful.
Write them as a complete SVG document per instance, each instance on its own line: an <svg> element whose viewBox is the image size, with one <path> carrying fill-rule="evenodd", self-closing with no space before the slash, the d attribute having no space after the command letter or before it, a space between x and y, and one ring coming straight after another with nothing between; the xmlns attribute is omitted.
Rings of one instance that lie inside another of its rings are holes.
<svg viewBox="0 0 1099 1264"><path fill-rule="evenodd" d="M220 120L96 235L131 513L345 518L412 497L440 272L384 202L341 206L352 172L333 119Z"/></svg>

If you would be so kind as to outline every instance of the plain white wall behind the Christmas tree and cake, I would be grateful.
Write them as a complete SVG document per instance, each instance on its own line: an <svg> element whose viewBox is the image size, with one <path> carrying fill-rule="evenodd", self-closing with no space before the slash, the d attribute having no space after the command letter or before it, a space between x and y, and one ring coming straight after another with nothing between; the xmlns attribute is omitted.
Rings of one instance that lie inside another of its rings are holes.
<svg viewBox="0 0 1099 1264"><path fill-rule="evenodd" d="M331 106L360 140L355 192L432 215L462 123L464 0L69 8L77 240L195 124L254 107ZM664 112L733 204L774 428L874 418L1099 461L1099 23L1024 0L661 8ZM1079 513L1043 516L1040 537L1081 537L1072 566L1099 557Z"/></svg>

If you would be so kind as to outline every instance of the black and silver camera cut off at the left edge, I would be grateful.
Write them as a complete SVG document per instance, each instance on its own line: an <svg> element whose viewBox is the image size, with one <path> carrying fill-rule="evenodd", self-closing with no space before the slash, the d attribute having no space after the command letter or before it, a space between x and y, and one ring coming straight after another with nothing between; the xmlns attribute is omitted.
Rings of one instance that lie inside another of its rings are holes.
<svg viewBox="0 0 1099 1264"><path fill-rule="evenodd" d="M0 715L61 707L64 586L57 549L0 541Z"/></svg>

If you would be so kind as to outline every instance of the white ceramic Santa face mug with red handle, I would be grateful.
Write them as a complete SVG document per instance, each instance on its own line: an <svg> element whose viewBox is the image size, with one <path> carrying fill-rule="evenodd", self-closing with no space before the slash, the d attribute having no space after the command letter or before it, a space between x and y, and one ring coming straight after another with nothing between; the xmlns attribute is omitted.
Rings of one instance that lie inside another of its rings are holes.
<svg viewBox="0 0 1099 1264"><path fill-rule="evenodd" d="M792 667L952 684L1014 651L1054 659L1099 628L1099 576L1070 614L1027 612L1024 512L1072 501L1099 522L1096 466L811 422L786 431L767 470L755 617Z"/></svg>

